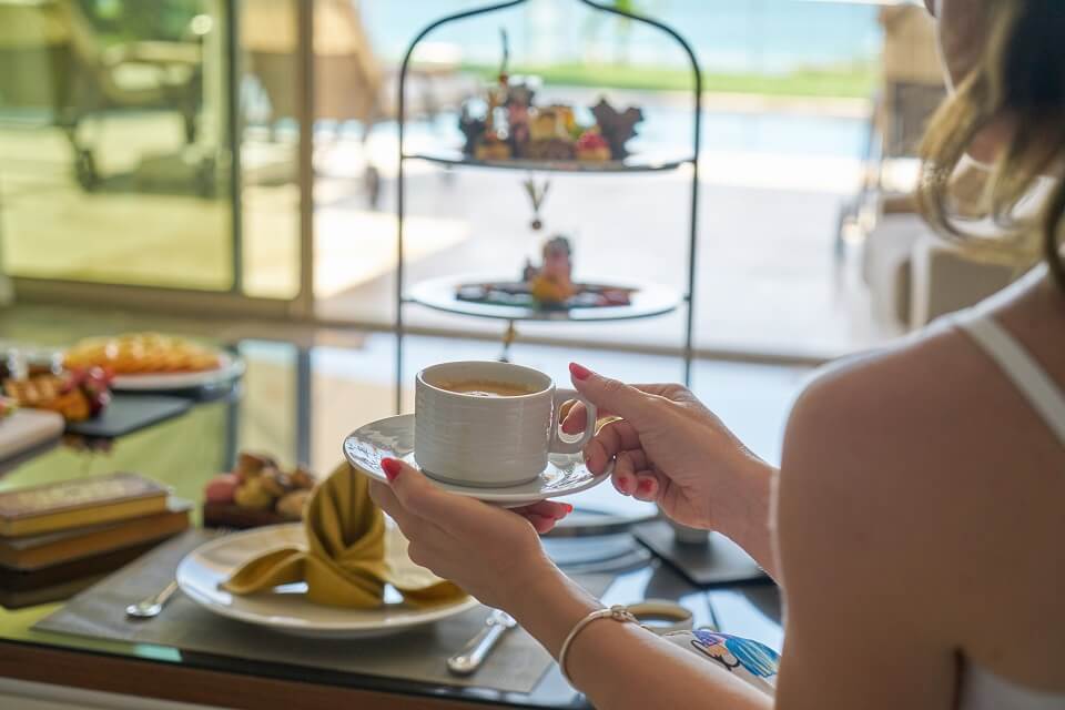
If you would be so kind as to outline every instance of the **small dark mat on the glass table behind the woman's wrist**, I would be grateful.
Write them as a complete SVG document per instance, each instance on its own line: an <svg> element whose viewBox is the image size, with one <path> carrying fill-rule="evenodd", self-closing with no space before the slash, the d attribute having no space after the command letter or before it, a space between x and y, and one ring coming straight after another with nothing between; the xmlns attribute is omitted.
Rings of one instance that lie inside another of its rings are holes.
<svg viewBox="0 0 1065 710"><path fill-rule="evenodd" d="M641 523L632 535L698 587L765 581L769 577L739 545L712 532L707 545L682 545L666 520Z"/></svg>

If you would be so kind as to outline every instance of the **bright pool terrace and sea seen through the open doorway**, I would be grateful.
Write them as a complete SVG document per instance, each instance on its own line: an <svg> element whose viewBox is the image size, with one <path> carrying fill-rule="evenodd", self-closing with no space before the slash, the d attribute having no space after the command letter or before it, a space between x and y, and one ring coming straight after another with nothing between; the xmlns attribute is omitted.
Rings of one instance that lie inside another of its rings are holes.
<svg viewBox="0 0 1065 710"><path fill-rule="evenodd" d="M428 18L443 14L445 6L459 11L477 4L369 1L363 3L363 21L387 74ZM866 317L864 293L845 283L834 256L840 207L860 185L880 78L880 9L795 0L646 0L618 7L690 36L703 70L697 343L820 354L888 335ZM690 152L692 79L683 51L659 32L576 1L534 1L428 36L415 54L408 89L418 116L409 126L408 152L462 144L454 108L497 74L500 29L509 40L511 73L541 78L544 102L590 106L606 95L619 108L639 106L645 121L635 152ZM423 82L429 81L433 92L423 95ZM320 150L323 145L320 141ZM359 165L359 155L384 175L379 207L386 220L333 192L342 176L355 176L348 171ZM335 280L320 280L320 312L390 317L379 304L393 298L394 126L386 119L365 150L335 145L320 159L320 243L335 241L348 255ZM417 161L408 162L407 171L412 282L456 272L511 276L499 273L504 263L514 264L516 277L525 258L535 257L539 243L555 233L572 239L575 268L584 277L678 287L686 278L690 173L684 170L637 180L555 176L541 233L529 230L525 175L444 171ZM352 263L357 265L348 270ZM356 275L361 283L352 283ZM419 324L501 329L409 312ZM638 325L520 332L676 346L681 323L678 313Z"/></svg>

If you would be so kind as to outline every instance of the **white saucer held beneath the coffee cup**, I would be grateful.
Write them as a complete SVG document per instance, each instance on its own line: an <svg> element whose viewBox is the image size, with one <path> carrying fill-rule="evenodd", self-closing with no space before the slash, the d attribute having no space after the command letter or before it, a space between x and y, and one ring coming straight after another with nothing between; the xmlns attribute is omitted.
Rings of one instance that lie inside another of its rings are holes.
<svg viewBox="0 0 1065 710"><path fill-rule="evenodd" d="M357 470L377 480L387 480L381 469L382 458L399 458L417 467L414 460L414 415L402 414L361 426L344 439L344 456ZM587 490L609 478L611 468L608 466L596 476L585 466L582 454L551 454L547 468L537 478L516 486L485 488L429 480L449 493L517 508Z"/></svg>

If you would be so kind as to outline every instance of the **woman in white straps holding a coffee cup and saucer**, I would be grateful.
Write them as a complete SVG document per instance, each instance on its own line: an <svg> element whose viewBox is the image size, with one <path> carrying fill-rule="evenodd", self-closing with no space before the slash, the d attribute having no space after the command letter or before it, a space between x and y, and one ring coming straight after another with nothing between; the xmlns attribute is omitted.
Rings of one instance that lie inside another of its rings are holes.
<svg viewBox="0 0 1065 710"><path fill-rule="evenodd" d="M598 708L1065 708L1065 4L936 4L955 91L926 139L923 209L962 239L949 176L966 152L994 163L988 205L1010 226L967 242L1044 263L972 313L816 379L779 471L682 387L572 365L575 387L622 417L588 445L591 469L613 459L620 493L741 544L787 605L774 698L636 625L585 623L566 669ZM1041 222L1011 223L1041 175L1053 181ZM551 653L599 608L534 532L561 504L523 518L387 468L373 495L414 559L510 611Z"/></svg>

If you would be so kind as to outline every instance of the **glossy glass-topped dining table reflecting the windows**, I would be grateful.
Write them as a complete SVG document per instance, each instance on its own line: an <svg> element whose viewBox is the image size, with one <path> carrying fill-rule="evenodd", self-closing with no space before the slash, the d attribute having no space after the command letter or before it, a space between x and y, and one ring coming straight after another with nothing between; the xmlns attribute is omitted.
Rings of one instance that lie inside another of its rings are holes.
<svg viewBox="0 0 1065 710"><path fill-rule="evenodd" d="M219 345L246 364L237 382L173 393L187 397L192 406L148 428L113 439L68 436L4 462L0 490L134 471L197 504L192 516L195 527L202 525L199 504L204 485L230 470L240 452L270 452L288 465L302 463L326 473L341 460L345 434L363 422L392 414L387 378L374 376L373 343L336 347L220 338ZM577 519L592 524L585 528L574 524L546 538L545 545L562 569L594 574L600 580L604 604L673 601L692 612L696 626L753 638L779 650L780 595L771 580L692 584L641 545L627 525L652 518L652 507L616 495L609 485L572 503L582 514ZM609 525L597 528L596 516ZM266 661L190 650L180 641L144 643L40 628L64 604L65 599L54 599L0 608L0 706L6 704L4 698L36 697L60 703L55 707L115 708L174 707L171 703L255 710L590 707L554 662L530 690L521 692L494 687L491 678L481 680L477 673L462 683L426 682L402 673L308 666L304 661L320 641L307 638L286 638L287 656ZM164 608L161 618L166 613ZM400 642L397 639L353 640L331 648L341 653L386 651L388 645ZM142 704L129 704L130 698Z"/></svg>

